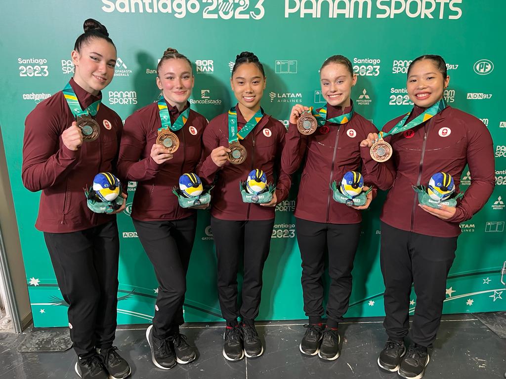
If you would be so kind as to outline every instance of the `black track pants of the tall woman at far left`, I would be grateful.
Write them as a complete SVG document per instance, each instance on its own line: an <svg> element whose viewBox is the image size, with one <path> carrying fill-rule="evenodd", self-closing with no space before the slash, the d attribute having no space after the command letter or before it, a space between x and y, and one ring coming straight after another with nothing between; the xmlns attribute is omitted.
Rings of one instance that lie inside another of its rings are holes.
<svg viewBox="0 0 506 379"><path fill-rule="evenodd" d="M44 233L63 299L70 338L82 358L114 341L119 239L116 221L70 233Z"/></svg>

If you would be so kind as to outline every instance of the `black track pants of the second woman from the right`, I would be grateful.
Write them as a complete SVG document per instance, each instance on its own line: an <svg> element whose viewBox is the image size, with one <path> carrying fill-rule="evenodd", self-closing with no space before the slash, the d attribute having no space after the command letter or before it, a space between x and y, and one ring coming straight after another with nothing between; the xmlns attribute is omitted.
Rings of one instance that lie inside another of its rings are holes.
<svg viewBox="0 0 506 379"><path fill-rule="evenodd" d="M330 288L327 324L337 327L348 310L353 260L360 238L360 224L329 224L296 219L297 242L302 258L304 312L315 320L323 315L323 272L328 251Z"/></svg>

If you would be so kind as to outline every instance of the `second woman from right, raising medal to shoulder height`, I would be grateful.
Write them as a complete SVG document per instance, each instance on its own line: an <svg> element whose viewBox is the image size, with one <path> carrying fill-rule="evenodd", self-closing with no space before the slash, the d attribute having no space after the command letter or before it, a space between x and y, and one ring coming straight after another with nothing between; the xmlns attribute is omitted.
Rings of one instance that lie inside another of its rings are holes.
<svg viewBox="0 0 506 379"><path fill-rule="evenodd" d="M355 112L350 99L357 82L351 62L335 55L320 69L320 85L327 104L316 111L314 134L305 135L297 124L310 108L298 104L292 108L290 124L283 151L282 167L288 174L305 162L295 210L297 241L302 258L302 288L304 311L309 317L306 333L299 349L303 354L325 360L337 359L339 351L339 322L349 305L352 289L353 260L360 236L361 209L366 209L373 193L362 206L348 206L332 199L332 181L341 183L348 171L362 166L367 185L378 181L386 168L374 162L360 141L376 131L374 125ZM307 116L304 116L307 117ZM330 288L326 327L322 323L324 256L328 250Z"/></svg>

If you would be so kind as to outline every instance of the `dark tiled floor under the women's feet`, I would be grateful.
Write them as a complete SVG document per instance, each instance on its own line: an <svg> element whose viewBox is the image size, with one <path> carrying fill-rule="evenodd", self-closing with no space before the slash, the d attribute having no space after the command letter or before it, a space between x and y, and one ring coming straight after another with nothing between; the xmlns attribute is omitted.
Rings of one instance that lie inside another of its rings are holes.
<svg viewBox="0 0 506 379"><path fill-rule="evenodd" d="M340 326L342 354L333 362L307 357L299 352L304 333L302 322L258 322L265 342L265 353L257 359L228 362L222 356L221 324L190 324L184 328L189 341L199 349L199 357L188 365L170 371L154 367L149 359L145 330L122 327L116 345L132 365L132 377L181 379L299 379L299 378L398 378L380 370L376 364L385 334L381 320L366 318ZM26 333L30 333L28 330ZM75 354L19 353L26 337L0 334L0 378L76 378ZM500 339L473 315L444 317L431 354L425 378L488 379L502 378L506 370L506 340Z"/></svg>

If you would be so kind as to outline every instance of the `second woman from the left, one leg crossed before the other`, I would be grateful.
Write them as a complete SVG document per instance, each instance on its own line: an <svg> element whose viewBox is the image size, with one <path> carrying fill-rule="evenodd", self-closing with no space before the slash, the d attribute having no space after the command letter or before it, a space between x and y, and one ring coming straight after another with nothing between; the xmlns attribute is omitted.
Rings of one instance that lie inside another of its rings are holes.
<svg viewBox="0 0 506 379"><path fill-rule="evenodd" d="M146 330L146 339L154 365L170 369L196 358L196 349L186 342L179 326L184 323L195 208L203 207L181 207L172 189L179 186L181 175L195 172L207 121L190 109L195 78L188 58L169 48L156 71L160 98L126 119L118 170L138 182L131 216L158 280L153 324ZM172 138L168 145L163 145L166 138L159 138L163 133Z"/></svg>

